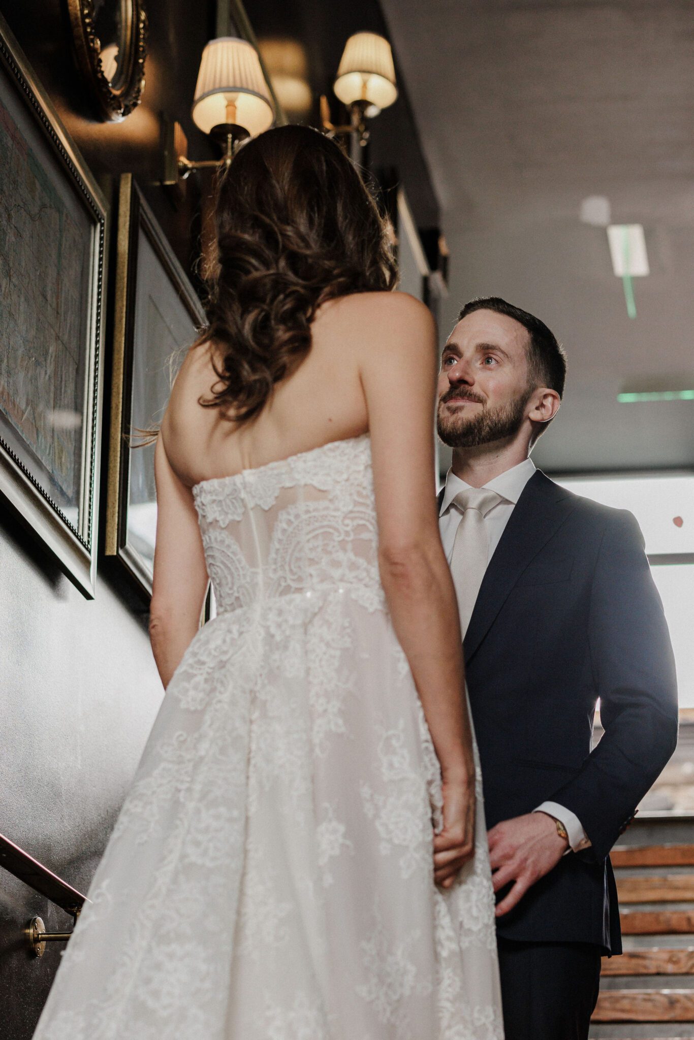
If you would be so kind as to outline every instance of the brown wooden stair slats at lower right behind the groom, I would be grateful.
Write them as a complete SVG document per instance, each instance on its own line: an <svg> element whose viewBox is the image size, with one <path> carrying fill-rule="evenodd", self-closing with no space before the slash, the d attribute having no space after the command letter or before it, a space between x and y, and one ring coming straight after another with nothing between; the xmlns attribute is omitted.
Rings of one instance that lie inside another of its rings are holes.
<svg viewBox="0 0 694 1040"><path fill-rule="evenodd" d="M621 957L603 958L591 1040L694 1038L694 844L613 850Z"/></svg>

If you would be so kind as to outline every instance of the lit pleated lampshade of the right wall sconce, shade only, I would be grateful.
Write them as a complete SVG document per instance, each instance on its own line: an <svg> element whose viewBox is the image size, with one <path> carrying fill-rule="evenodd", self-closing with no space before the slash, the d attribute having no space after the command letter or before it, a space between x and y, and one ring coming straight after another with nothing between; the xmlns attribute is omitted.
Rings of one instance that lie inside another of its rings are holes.
<svg viewBox="0 0 694 1040"><path fill-rule="evenodd" d="M387 108L397 97L390 44L376 32L356 32L344 45L333 87L345 105L367 101Z"/></svg>

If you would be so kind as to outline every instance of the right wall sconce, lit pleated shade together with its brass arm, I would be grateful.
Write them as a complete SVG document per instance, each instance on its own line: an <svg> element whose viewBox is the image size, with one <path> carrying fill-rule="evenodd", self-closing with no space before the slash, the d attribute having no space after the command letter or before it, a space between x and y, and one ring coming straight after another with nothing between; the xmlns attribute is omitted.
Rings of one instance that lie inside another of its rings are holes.
<svg viewBox="0 0 694 1040"><path fill-rule="evenodd" d="M330 107L320 98L324 129L331 136L353 134L361 148L368 141L366 120L392 105L397 98L395 68L390 44L375 32L356 32L344 45L333 89L350 110L349 126L330 122Z"/></svg>

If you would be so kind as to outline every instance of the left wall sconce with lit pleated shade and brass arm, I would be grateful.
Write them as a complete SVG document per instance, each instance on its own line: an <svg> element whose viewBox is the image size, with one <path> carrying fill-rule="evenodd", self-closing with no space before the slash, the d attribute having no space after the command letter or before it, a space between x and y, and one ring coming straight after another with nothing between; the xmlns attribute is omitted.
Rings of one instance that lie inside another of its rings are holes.
<svg viewBox="0 0 694 1040"><path fill-rule="evenodd" d="M185 136L180 125L173 124L169 131L170 135L173 131L173 139L164 149L168 168L163 184L175 184L179 178L184 180L192 170L227 168L241 140L255 137L273 125L275 106L258 53L247 40L220 36L205 46L191 114L196 126L221 146L223 157L188 159Z"/></svg>

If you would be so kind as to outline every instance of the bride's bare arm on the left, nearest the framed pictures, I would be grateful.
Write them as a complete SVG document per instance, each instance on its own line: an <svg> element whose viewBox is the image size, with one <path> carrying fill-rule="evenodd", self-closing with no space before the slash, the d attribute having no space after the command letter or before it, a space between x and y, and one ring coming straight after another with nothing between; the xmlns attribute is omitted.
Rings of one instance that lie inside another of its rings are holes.
<svg viewBox="0 0 694 1040"><path fill-rule="evenodd" d="M157 537L150 606L152 651L164 686L200 625L207 569L192 492L176 475L161 435L154 453Z"/></svg>

